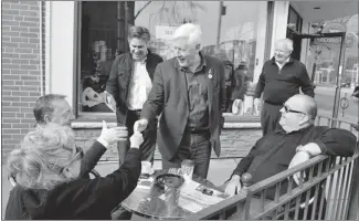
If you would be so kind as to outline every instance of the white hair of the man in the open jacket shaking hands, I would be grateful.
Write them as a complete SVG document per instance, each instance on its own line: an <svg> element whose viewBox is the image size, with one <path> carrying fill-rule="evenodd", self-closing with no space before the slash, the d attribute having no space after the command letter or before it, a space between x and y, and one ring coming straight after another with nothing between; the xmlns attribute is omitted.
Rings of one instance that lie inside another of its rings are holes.
<svg viewBox="0 0 359 221"><path fill-rule="evenodd" d="M172 40L184 39L188 44L197 45L202 42L202 31L199 25L186 23L175 30Z"/></svg>

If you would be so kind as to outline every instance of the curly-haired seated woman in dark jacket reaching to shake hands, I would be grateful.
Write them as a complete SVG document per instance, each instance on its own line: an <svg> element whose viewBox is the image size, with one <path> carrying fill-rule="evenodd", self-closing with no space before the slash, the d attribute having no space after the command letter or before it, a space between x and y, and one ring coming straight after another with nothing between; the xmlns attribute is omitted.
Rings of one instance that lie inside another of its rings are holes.
<svg viewBox="0 0 359 221"><path fill-rule="evenodd" d="M21 148L10 152L8 166L18 185L10 192L6 219L110 219L110 211L136 188L141 134L130 137L120 168L88 179L80 177L83 151L65 130L51 125L30 131Z"/></svg>

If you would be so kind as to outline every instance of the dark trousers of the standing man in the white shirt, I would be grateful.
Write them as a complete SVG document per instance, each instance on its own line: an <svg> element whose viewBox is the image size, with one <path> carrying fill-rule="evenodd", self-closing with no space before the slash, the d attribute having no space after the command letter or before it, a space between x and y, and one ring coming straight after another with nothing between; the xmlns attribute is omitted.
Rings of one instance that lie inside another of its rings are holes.
<svg viewBox="0 0 359 221"><path fill-rule="evenodd" d="M134 134L134 124L140 117L140 110L128 110L126 127L128 130L127 141L119 141L117 145L119 165L122 165L126 158L127 151L130 148L129 137ZM147 128L142 131L144 143L139 146L142 152L142 161L150 161L154 164L154 156L156 149L156 138L157 138L157 119L148 124Z"/></svg>

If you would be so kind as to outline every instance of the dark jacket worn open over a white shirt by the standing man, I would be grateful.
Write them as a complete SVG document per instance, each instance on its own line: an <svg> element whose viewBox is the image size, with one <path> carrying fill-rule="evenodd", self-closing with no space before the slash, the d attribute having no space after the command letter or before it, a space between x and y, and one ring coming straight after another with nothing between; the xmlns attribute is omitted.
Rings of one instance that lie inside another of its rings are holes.
<svg viewBox="0 0 359 221"><path fill-rule="evenodd" d="M146 70L149 77L154 81L154 73L157 64L161 63L163 60L159 55L148 51ZM110 70L109 78L106 84L106 92L112 94L116 101L116 116L117 122L120 124L126 124L127 116L127 96L129 92L129 83L133 77L133 55L131 53L124 53L118 55Z"/></svg>

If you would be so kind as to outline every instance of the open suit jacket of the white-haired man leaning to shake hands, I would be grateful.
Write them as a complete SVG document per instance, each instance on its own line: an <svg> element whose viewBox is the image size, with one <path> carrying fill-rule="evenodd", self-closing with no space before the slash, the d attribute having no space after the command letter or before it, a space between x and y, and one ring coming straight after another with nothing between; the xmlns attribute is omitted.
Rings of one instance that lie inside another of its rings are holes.
<svg viewBox="0 0 359 221"><path fill-rule="evenodd" d="M224 64L212 56L203 57L209 76L207 83L210 141L217 156L220 156L221 120L225 108ZM180 69L176 57L157 66L151 92L141 112L141 118L149 122L161 114L157 144L162 157L168 160L175 156L180 145L189 116L186 76Z"/></svg>

